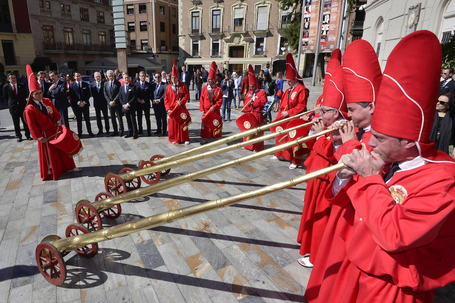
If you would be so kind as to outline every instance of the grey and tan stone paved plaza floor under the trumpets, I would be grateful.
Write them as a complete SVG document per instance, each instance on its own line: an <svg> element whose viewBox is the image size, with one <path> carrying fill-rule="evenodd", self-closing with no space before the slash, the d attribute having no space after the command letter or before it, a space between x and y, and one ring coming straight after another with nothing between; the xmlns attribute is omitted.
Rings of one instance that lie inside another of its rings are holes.
<svg viewBox="0 0 455 303"><path fill-rule="evenodd" d="M308 107L312 108L322 86L308 87ZM76 222L76 203L81 199L94 201L99 192L106 191L106 173L118 173L124 167L136 169L140 160L152 155L169 156L199 146L201 112L194 91L190 95L190 145L173 145L167 137L155 136L136 140L85 137L84 149L74 158L82 171L64 173L57 181L41 181L36 140L16 142L11 121L8 124L8 110L1 111L0 303L305 301L303 294L311 271L297 263L296 242L305 184L99 242L98 254L91 259L71 251L64 257L68 274L61 286L50 284L38 272L37 244L47 235L65 236L66 227ZM91 116L96 133L93 107ZM239 112L232 110L233 121L224 123L223 137L239 132L235 123L238 117ZM70 123L76 129L75 120ZM155 128L152 116L152 131ZM266 141L265 147L274 142ZM247 155L251 151L236 149L173 168L163 179ZM200 204L305 173L304 168L289 170L288 162L269 158L123 203L120 217L102 218L103 226ZM453 285L446 286L437 290L435 301L452 302L454 294Z"/></svg>

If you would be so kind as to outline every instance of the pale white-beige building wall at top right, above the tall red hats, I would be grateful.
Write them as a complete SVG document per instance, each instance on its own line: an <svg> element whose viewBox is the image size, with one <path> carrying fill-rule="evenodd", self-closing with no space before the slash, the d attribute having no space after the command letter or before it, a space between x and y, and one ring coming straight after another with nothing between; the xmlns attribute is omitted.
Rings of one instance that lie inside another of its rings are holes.
<svg viewBox="0 0 455 303"><path fill-rule="evenodd" d="M455 30L455 0L368 0L364 9L362 38L377 51L383 70L393 47L414 28L432 31L441 41Z"/></svg>

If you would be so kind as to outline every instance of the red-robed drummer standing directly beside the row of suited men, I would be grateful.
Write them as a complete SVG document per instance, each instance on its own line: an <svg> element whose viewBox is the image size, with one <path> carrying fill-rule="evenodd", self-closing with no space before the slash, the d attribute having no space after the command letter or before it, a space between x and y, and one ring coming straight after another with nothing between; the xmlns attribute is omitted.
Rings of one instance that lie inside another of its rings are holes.
<svg viewBox="0 0 455 303"><path fill-rule="evenodd" d="M164 94L164 107L166 108L167 114L177 106L185 107L188 100L190 99L190 93L188 92L187 86L185 83L178 80L177 66L174 64L172 66L172 76L171 76L171 85L166 87L166 93ZM185 130L180 127L180 124L177 123L171 117L168 117L168 134L169 142L172 144L175 143L184 143L190 144L190 135L188 134L188 127Z"/></svg>

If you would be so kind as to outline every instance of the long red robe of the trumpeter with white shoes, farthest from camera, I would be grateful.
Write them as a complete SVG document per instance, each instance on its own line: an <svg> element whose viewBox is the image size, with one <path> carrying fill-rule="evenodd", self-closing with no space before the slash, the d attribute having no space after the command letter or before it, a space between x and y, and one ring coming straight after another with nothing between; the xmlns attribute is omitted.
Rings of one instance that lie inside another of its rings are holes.
<svg viewBox="0 0 455 303"><path fill-rule="evenodd" d="M333 149L331 136L318 137L312 145L310 156L304 162L306 173L336 164ZM336 172L330 175L334 174ZM324 197L324 192L331 185L330 175L309 180L303 199L302 220L300 221L297 242L301 243L300 255L304 256L309 253L311 263L316 258L317 249L329 221L331 204Z"/></svg>

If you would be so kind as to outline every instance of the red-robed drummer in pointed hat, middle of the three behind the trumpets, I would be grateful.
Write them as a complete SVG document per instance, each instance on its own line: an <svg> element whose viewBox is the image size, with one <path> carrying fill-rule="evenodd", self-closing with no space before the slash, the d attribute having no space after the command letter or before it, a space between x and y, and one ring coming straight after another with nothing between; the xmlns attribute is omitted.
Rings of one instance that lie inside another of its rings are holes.
<svg viewBox="0 0 455 303"><path fill-rule="evenodd" d="M216 86L216 63L212 61L210 66L209 75L207 77L207 85L202 88L201 98L199 104L202 107L203 116L207 115L209 111L216 113L220 116L219 109L223 104L223 91L220 87ZM207 123L212 121L206 120ZM201 143L204 144L208 139L221 138L221 131L215 132L210 130L208 125L203 121L201 123L201 137L204 139Z"/></svg>

